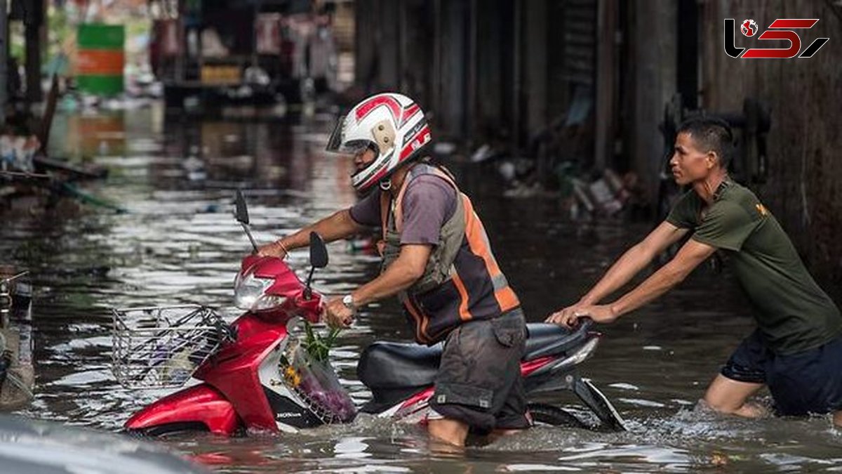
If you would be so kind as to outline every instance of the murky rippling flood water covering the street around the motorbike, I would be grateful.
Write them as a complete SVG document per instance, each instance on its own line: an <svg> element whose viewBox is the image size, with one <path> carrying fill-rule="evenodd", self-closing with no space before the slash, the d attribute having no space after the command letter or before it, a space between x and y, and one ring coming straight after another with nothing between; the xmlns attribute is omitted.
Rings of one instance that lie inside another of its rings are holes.
<svg viewBox="0 0 842 474"><path fill-rule="evenodd" d="M61 116L53 154L109 167L84 190L124 207L18 214L0 226L3 261L32 272L36 399L22 414L119 430L161 391L129 391L110 372L109 308L207 304L233 317L232 281L248 239L232 218L246 191L258 240L269 241L354 202L349 161L322 153L331 116L248 123L165 119L159 107ZM527 318L573 303L647 231L620 220L573 223L555 200L502 197L493 175L457 167ZM377 260L346 242L316 287L344 294ZM305 269L306 252L291 266ZM278 471L839 471L842 431L829 418L739 420L694 410L707 383L754 325L733 280L707 268L613 326L582 373L615 402L631 431L535 428L466 450L431 454L424 430L359 417L296 435L166 439L222 472ZM356 401L360 350L411 332L388 302L344 331L332 358ZM768 402L768 393L759 397ZM573 396L542 401L577 408Z"/></svg>

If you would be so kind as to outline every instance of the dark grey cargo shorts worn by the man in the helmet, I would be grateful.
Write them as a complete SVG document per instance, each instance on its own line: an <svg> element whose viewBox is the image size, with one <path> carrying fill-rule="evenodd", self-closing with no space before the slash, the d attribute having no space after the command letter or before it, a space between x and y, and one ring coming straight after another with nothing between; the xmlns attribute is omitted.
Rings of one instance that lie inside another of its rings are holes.
<svg viewBox="0 0 842 474"><path fill-rule="evenodd" d="M529 428L520 377L525 347L526 322L520 309L450 331L430 407L478 433Z"/></svg>

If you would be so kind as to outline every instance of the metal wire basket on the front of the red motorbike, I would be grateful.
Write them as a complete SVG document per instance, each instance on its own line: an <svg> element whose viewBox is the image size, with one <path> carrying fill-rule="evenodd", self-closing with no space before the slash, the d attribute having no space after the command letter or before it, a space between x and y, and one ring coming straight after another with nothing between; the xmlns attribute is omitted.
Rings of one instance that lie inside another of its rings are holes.
<svg viewBox="0 0 842 474"><path fill-rule="evenodd" d="M232 339L216 312L196 304L112 310L111 369L126 388L174 388Z"/></svg>

